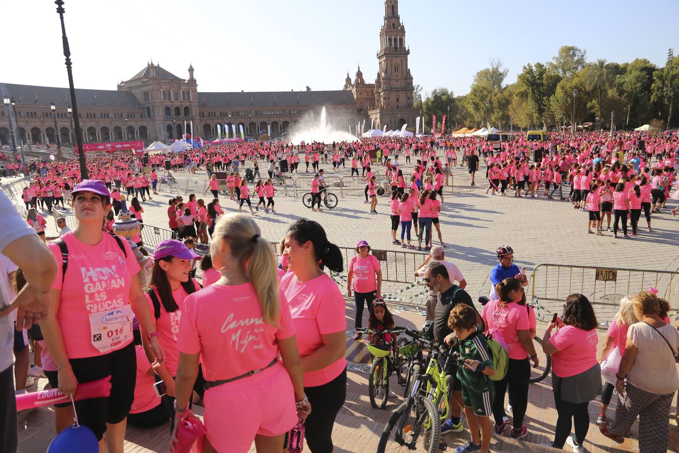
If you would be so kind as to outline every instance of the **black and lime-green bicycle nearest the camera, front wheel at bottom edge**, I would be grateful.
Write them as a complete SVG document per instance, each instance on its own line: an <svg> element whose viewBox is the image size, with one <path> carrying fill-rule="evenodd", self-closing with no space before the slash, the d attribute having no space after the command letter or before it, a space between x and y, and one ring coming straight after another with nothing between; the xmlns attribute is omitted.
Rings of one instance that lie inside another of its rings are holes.
<svg viewBox="0 0 679 453"><path fill-rule="evenodd" d="M421 333L406 329L405 333L415 339L423 348L432 344ZM456 357L457 356L457 357ZM441 441L441 420L448 417L448 402L452 376L445 374L447 361L459 361L459 355L451 348L433 349L426 372L414 375L414 382L408 397L390 416L380 435L378 453L388 451L424 450L435 453L445 450ZM443 365L443 366L441 366ZM443 398L442 398L443 397ZM443 413L438 407L443 407Z"/></svg>

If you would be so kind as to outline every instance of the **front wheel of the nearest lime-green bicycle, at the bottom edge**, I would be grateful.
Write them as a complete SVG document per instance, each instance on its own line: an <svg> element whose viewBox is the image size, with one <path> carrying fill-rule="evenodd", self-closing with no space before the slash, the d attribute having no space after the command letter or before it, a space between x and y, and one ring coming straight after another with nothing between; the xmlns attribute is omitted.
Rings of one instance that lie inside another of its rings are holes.
<svg viewBox="0 0 679 453"><path fill-rule="evenodd" d="M431 422L431 429L424 427ZM439 450L441 423L431 401L417 395L407 399L391 414L382 431L378 453L418 452L436 453Z"/></svg>

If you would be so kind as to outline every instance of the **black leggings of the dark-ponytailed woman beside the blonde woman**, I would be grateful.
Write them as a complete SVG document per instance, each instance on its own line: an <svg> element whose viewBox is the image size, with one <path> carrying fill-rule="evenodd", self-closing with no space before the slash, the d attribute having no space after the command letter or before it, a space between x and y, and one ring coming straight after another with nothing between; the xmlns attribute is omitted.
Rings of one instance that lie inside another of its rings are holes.
<svg viewBox="0 0 679 453"><path fill-rule="evenodd" d="M312 413L304 423L304 437L312 453L332 453L333 425L346 400L346 369L327 384L304 387Z"/></svg>

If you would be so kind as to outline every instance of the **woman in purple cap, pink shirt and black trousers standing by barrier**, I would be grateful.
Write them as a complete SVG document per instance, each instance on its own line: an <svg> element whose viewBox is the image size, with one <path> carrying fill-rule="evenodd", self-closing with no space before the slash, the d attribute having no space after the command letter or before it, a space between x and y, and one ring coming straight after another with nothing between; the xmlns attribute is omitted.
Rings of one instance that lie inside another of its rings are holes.
<svg viewBox="0 0 679 453"><path fill-rule="evenodd" d="M373 307L373 300L382 297L382 269L380 261L370 254L370 244L365 239L356 244L356 255L351 258L346 276L346 295L351 297L354 290L356 316L354 327L363 327L363 308L368 306L368 313ZM361 332L356 331L354 340L361 338Z"/></svg>

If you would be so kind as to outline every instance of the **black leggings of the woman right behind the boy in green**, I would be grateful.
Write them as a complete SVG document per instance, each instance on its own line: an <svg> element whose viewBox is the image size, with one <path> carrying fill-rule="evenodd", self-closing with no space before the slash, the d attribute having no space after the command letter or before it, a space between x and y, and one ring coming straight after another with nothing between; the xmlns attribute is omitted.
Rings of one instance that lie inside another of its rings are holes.
<svg viewBox="0 0 679 453"><path fill-rule="evenodd" d="M493 400L493 416L496 424L502 424L504 417L504 393L509 384L509 401L511 401L512 416L515 429L520 429L528 408L528 379L530 379L530 363L527 359L509 359L507 376L495 381Z"/></svg>

